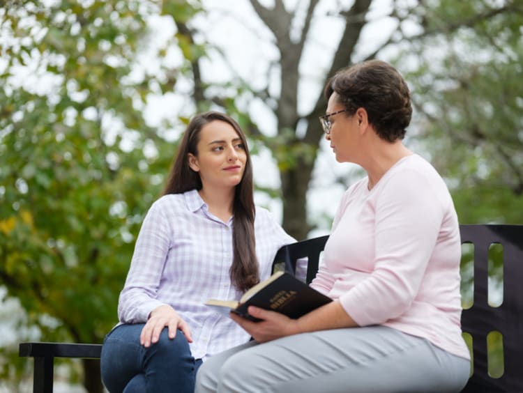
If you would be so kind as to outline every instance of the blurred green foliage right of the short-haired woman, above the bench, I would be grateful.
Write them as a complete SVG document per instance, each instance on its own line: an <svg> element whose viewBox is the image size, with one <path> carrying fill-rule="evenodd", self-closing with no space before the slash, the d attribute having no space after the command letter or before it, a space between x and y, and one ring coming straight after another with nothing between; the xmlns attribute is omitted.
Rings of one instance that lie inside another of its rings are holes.
<svg viewBox="0 0 523 393"><path fill-rule="evenodd" d="M411 70L417 137L446 178L460 222L521 224L523 3L435 3L424 17L427 31L439 32L398 59Z"/></svg>

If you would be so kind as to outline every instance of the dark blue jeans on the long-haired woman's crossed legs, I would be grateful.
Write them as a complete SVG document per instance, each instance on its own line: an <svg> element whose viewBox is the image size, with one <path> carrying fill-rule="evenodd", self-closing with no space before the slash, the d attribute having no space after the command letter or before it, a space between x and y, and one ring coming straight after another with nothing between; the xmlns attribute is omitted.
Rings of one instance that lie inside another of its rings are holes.
<svg viewBox="0 0 523 393"><path fill-rule="evenodd" d="M156 344L140 344L144 323L115 327L104 339L100 367L110 393L192 393L202 360L190 353L187 339L178 330L169 339L164 328Z"/></svg>

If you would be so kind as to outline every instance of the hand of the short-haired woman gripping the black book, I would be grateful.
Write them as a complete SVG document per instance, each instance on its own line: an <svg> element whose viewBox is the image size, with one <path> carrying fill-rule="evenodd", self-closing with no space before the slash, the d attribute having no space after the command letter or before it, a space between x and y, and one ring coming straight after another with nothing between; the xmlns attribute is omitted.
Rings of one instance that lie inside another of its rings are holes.
<svg viewBox="0 0 523 393"><path fill-rule="evenodd" d="M248 332L257 342L263 343L280 337L290 336L298 333L298 323L296 319L291 319L275 311L268 311L258 307L250 306L249 314L263 321L252 322L246 318L231 313L230 316Z"/></svg>

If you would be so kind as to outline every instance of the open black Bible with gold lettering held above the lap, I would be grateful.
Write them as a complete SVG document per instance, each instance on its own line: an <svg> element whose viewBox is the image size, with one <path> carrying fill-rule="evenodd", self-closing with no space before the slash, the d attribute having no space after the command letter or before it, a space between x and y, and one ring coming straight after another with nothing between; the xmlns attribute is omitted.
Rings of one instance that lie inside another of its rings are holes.
<svg viewBox="0 0 523 393"><path fill-rule="evenodd" d="M249 306L278 311L289 318L299 318L317 309L332 299L286 272L275 272L268 279L259 282L236 300L209 299L205 304L221 314L232 311L251 321L259 321L247 312Z"/></svg>

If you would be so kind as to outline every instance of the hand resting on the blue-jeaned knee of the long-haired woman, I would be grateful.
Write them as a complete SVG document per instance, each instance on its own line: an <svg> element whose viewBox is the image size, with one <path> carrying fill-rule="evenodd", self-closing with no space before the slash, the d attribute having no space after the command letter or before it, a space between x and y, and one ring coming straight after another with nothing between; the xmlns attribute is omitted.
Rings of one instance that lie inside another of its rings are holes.
<svg viewBox="0 0 523 393"><path fill-rule="evenodd" d="M166 326L169 329L169 339L174 339L176 330L179 329L187 341L192 343L189 325L183 321L181 316L171 306L162 305L151 311L149 320L147 320L140 334L140 344L145 348L149 348L151 344L158 342L160 333Z"/></svg>

